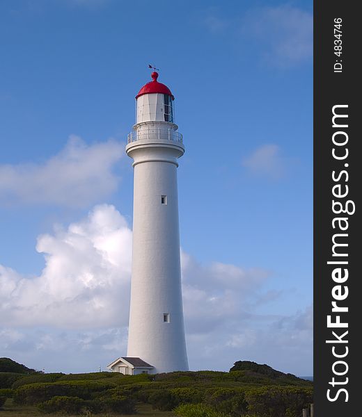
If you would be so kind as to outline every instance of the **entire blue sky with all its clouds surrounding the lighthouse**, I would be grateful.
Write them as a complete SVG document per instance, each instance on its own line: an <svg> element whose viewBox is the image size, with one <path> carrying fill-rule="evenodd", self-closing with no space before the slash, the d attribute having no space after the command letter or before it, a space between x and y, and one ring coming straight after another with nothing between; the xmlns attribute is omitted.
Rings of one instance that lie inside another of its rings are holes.
<svg viewBox="0 0 362 417"><path fill-rule="evenodd" d="M190 368L248 359L312 374L312 6L0 3L0 356L77 372L125 354L124 147L152 63L186 147Z"/></svg>

